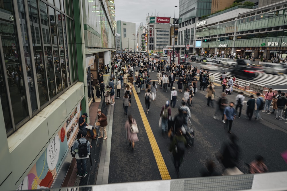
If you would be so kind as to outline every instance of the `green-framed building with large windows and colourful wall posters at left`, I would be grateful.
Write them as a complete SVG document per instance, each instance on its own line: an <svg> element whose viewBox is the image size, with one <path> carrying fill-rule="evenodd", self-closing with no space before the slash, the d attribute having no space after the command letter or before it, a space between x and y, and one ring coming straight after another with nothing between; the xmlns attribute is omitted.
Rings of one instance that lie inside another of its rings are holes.
<svg viewBox="0 0 287 191"><path fill-rule="evenodd" d="M115 49L109 3L0 1L0 190L61 187L90 73Z"/></svg>

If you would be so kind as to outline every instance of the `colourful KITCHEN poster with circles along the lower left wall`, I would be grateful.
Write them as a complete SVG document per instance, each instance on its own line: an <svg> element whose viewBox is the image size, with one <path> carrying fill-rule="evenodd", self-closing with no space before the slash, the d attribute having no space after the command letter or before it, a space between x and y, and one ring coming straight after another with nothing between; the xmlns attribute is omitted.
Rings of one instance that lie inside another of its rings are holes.
<svg viewBox="0 0 287 191"><path fill-rule="evenodd" d="M79 103L60 131L50 140L50 144L22 180L17 190L51 188L57 172L79 131L78 119L81 110L81 103Z"/></svg>

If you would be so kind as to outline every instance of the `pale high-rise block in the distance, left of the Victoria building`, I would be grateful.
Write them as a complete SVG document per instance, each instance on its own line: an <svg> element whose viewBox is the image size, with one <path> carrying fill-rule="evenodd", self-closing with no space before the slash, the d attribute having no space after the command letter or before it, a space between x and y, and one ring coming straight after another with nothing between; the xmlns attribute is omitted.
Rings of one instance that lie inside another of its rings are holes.
<svg viewBox="0 0 287 191"><path fill-rule="evenodd" d="M117 33L121 35L121 50L134 51L136 49L135 23L117 21Z"/></svg>

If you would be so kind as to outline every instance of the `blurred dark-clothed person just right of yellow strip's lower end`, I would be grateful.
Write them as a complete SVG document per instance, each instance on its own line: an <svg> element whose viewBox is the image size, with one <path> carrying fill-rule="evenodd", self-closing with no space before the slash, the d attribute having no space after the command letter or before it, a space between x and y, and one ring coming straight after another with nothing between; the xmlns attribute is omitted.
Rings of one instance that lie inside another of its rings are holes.
<svg viewBox="0 0 287 191"><path fill-rule="evenodd" d="M182 130L180 128L175 128L175 133L169 146L169 151L172 152L172 156L174 160L173 161L174 167L175 167L175 170L177 171L178 176L179 176L179 167L181 163L183 162L183 156L185 153L186 145L187 145L187 141L183 135Z"/></svg>

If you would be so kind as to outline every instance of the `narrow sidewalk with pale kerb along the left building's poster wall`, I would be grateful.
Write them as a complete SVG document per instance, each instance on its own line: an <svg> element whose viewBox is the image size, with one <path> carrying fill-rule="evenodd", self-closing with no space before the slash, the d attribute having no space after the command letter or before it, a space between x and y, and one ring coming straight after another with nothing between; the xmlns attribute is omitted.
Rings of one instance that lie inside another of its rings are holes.
<svg viewBox="0 0 287 191"><path fill-rule="evenodd" d="M108 84L110 81L110 73L104 74L104 83ZM96 95L96 90L94 90L94 95ZM86 186L86 185L94 185L94 184L108 184L108 168L104 171L104 166L109 164L109 151L112 137L112 125L113 125L113 105L105 105L104 99L100 99L95 97L94 103L92 103L92 99L89 102L89 121L91 125L94 125L97 121L97 111L98 108L102 110L108 120L108 126L106 127L108 139L88 139L92 146L91 148L91 158L92 158L92 166L90 164L90 160L87 160L87 172L88 175L85 178L80 178L76 176L77 172L77 164L75 158L71 161L70 168L65 176L63 184L61 187L72 187L72 186ZM110 106L110 107L109 107ZM97 135L99 133L99 129L97 129ZM97 136L98 137L98 136ZM69 154L68 154L69 155ZM107 170L107 174L106 174Z"/></svg>

